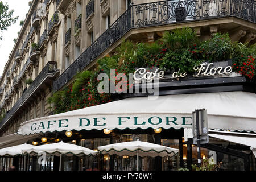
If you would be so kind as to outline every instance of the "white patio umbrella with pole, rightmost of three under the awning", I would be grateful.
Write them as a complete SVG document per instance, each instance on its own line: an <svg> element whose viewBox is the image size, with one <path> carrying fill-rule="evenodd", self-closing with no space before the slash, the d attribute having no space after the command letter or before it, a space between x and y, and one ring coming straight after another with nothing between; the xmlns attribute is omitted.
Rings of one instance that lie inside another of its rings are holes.
<svg viewBox="0 0 256 182"><path fill-rule="evenodd" d="M108 144L106 146L98 147L98 152L101 154L117 154L119 156L129 155L134 156L137 155L137 171L139 164L139 156L151 156L155 158L156 156L174 156L179 150L176 148L161 146L159 144L141 142L139 140L133 142L121 142Z"/></svg>

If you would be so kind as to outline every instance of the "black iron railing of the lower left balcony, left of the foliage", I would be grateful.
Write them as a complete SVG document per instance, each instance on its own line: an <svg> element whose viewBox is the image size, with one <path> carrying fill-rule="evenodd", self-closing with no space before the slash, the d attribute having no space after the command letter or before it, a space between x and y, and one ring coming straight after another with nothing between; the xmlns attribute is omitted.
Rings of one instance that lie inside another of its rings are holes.
<svg viewBox="0 0 256 182"><path fill-rule="evenodd" d="M29 88L27 88L27 90L24 91L24 93L22 94L22 97L20 97L19 100L10 109L10 111L8 113L6 113L5 117L2 119L2 122L0 123L0 128L3 125L5 125L5 123L11 118L11 116L16 113L16 111L19 109L19 107L22 106L24 104L24 102L26 102L27 99L30 97L30 95L35 92L36 88L40 84L42 84L42 82L44 81L44 78L46 78L47 75L54 73L56 71L56 69L57 69L56 62L49 61L46 64L46 66L39 73L39 75L35 78L35 80L32 82L32 84L29 86Z"/></svg>

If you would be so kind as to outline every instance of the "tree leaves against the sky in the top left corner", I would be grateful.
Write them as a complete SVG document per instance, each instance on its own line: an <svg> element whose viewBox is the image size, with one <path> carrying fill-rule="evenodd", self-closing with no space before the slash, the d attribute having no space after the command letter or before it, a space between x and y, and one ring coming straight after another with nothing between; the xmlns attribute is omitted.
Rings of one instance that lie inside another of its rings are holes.
<svg viewBox="0 0 256 182"><path fill-rule="evenodd" d="M0 31L7 30L11 24L16 23L16 20L19 18L19 16L14 17L13 13L14 10L8 11L9 6L7 3L3 4L2 1L0 1ZM2 40L2 36L0 36L0 40Z"/></svg>

